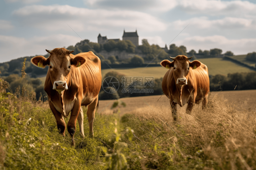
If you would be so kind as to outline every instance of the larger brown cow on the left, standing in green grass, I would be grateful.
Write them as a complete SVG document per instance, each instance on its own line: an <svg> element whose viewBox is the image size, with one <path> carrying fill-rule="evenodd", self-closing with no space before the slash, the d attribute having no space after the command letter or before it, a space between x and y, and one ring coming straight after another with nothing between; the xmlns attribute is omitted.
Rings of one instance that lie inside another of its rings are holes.
<svg viewBox="0 0 256 170"><path fill-rule="evenodd" d="M66 124L63 117L70 119L67 131L75 145L74 134L78 119L80 133L83 132L83 110L81 105L88 106L90 136L93 137L93 120L98 107L98 94L101 88L101 61L92 51L72 55L73 50L56 48L46 50L50 56L36 56L31 63L45 68L49 65L44 90L48 95L49 105L56 118L57 128L65 135Z"/></svg>

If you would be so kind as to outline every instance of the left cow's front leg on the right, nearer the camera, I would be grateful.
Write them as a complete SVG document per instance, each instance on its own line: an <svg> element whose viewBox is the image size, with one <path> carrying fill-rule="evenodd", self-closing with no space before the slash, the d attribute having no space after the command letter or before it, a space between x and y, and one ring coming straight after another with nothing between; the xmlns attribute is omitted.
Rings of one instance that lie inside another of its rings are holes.
<svg viewBox="0 0 256 170"><path fill-rule="evenodd" d="M74 135L76 132L76 123L77 123L77 117L80 112L81 108L81 101L77 100L73 106L73 109L71 110L70 119L67 122L67 131L69 132L71 136L71 145L75 145Z"/></svg>

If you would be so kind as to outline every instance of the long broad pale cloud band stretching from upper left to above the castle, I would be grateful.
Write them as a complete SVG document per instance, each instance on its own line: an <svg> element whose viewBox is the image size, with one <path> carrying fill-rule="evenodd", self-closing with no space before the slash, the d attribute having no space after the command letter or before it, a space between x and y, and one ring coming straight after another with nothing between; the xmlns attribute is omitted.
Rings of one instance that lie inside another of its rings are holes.
<svg viewBox="0 0 256 170"><path fill-rule="evenodd" d="M42 30L67 30L67 24L77 31L120 30L163 31L166 24L156 17L138 11L77 8L69 5L30 5L13 12L22 25ZM67 23L67 24L66 24Z"/></svg>

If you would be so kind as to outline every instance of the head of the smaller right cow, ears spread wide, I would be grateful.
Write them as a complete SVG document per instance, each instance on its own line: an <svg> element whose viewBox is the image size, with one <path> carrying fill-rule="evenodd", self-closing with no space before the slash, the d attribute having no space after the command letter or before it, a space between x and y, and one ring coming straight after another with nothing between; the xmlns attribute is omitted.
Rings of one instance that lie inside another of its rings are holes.
<svg viewBox="0 0 256 170"><path fill-rule="evenodd" d="M174 74L174 80L177 85L187 85L188 84L188 75L189 70L196 69L200 67L200 61L190 62L189 60L192 57L186 57L185 55L178 55L175 58L170 57L173 61L163 60L160 65L166 67L167 69L172 68Z"/></svg>

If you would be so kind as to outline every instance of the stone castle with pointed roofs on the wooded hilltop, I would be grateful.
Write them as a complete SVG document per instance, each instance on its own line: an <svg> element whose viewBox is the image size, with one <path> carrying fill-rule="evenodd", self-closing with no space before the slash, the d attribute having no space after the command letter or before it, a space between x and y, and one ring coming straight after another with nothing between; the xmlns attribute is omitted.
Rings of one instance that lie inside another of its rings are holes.
<svg viewBox="0 0 256 170"><path fill-rule="evenodd" d="M98 44L104 44L110 40L118 42L120 39L108 39L107 36L101 36L101 34L98 35ZM137 47L138 46L137 30L135 32L125 32L125 30L123 30L123 40L130 40Z"/></svg>

